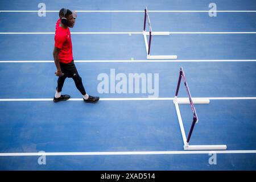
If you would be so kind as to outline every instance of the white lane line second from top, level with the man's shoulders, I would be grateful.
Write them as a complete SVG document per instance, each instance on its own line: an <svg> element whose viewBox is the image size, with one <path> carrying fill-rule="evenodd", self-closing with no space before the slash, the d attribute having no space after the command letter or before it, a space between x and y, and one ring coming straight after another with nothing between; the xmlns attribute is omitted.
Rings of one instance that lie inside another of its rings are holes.
<svg viewBox="0 0 256 182"><path fill-rule="evenodd" d="M55 34L55 32L0 32L0 35L37 35ZM71 32L71 34L143 34L143 32ZM256 34L256 32L169 32L169 34Z"/></svg>

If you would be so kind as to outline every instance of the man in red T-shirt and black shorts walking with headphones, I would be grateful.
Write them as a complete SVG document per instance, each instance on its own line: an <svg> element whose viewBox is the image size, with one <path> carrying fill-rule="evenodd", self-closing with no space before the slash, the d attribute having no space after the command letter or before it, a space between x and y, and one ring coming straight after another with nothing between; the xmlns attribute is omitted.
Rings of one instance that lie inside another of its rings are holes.
<svg viewBox="0 0 256 182"><path fill-rule="evenodd" d="M55 30L55 47L53 58L57 68L55 75L58 76L57 88L53 102L66 101L69 95L62 95L61 90L65 79L72 78L75 81L76 88L81 92L85 102L96 103L100 98L89 96L82 85L82 78L77 72L72 53L72 41L69 27L75 25L76 13L68 9L61 9L59 12L60 19L57 20Z"/></svg>

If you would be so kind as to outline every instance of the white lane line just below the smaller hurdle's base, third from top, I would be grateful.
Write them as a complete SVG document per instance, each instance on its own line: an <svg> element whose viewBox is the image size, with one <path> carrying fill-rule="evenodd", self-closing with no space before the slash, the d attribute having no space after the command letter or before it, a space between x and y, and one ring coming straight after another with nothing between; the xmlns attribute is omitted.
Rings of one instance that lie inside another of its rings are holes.
<svg viewBox="0 0 256 182"><path fill-rule="evenodd" d="M75 63L182 63L182 62L255 62L256 59L238 59L238 60L75 60ZM20 61L5 61L0 60L0 63L54 63L50 60L20 60Z"/></svg>

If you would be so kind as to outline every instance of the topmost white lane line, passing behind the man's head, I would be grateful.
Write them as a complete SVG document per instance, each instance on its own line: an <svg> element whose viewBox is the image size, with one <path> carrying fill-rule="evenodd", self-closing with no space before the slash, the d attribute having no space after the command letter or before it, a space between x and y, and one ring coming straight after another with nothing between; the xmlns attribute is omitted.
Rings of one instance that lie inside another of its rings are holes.
<svg viewBox="0 0 256 182"><path fill-rule="evenodd" d="M78 13L144 13L143 10L75 10ZM59 10L0 10L0 13L59 13ZM209 10L150 10L149 13L209 13ZM216 13L256 13L255 10L216 10Z"/></svg>

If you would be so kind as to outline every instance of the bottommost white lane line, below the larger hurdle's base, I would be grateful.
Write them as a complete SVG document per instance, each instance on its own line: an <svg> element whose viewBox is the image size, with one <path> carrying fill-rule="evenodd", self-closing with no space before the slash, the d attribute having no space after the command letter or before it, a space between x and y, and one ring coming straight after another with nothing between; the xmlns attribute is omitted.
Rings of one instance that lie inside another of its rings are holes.
<svg viewBox="0 0 256 182"><path fill-rule="evenodd" d="M225 151L128 151L128 152L22 152L0 153L0 156L42 156L42 155L170 155L170 154L255 154L256 150Z"/></svg>

